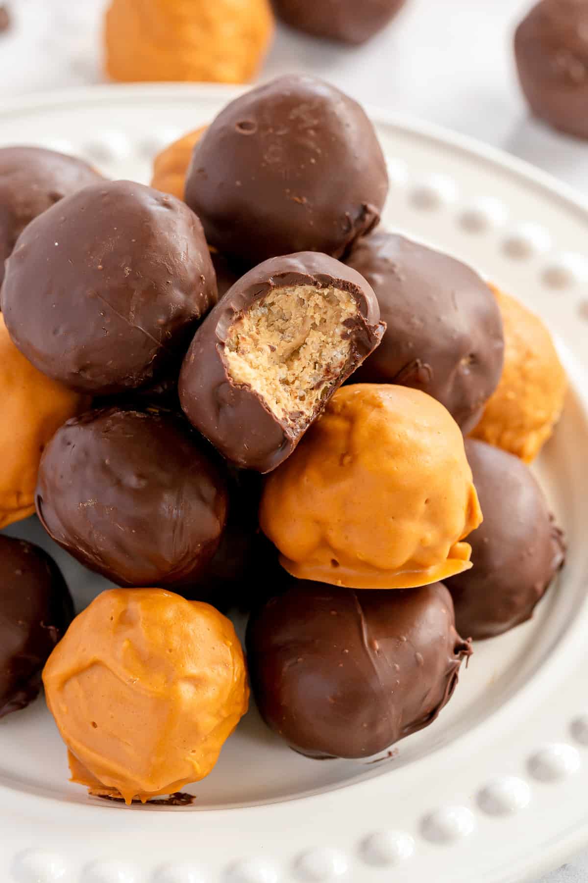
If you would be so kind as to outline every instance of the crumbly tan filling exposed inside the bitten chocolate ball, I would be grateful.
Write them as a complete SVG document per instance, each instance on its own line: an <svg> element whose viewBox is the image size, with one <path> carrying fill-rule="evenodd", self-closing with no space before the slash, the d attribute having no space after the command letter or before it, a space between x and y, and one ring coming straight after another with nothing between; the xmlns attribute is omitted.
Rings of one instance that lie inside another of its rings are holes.
<svg viewBox="0 0 588 883"><path fill-rule="evenodd" d="M344 323L358 312L347 291L275 289L232 325L228 373L257 392L278 419L305 423L346 366L352 341Z"/></svg>

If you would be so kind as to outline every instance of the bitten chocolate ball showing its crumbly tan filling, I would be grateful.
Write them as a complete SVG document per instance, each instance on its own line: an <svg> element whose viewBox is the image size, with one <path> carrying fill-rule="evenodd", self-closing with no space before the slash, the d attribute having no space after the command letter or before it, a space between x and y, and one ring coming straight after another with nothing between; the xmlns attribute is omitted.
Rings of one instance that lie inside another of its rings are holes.
<svg viewBox="0 0 588 883"><path fill-rule="evenodd" d="M270 472L383 334L374 292L326 254L249 270L202 323L180 373L190 422L231 463Z"/></svg>

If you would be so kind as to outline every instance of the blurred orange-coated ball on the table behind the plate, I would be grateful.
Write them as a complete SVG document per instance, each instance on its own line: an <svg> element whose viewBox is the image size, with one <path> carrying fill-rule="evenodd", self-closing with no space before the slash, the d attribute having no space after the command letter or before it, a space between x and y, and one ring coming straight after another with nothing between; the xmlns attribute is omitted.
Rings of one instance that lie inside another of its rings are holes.
<svg viewBox="0 0 588 883"><path fill-rule="evenodd" d="M123 82L244 83L273 33L269 0L111 0L105 68Z"/></svg>

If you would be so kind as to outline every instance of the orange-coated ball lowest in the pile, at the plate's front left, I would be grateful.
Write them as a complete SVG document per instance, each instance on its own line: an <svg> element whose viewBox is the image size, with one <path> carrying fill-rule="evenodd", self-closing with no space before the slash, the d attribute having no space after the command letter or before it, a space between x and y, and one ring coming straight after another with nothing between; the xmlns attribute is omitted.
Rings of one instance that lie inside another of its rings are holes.
<svg viewBox="0 0 588 883"><path fill-rule="evenodd" d="M102 592L43 683L72 780L127 804L204 779L249 701L232 623L162 589Z"/></svg>

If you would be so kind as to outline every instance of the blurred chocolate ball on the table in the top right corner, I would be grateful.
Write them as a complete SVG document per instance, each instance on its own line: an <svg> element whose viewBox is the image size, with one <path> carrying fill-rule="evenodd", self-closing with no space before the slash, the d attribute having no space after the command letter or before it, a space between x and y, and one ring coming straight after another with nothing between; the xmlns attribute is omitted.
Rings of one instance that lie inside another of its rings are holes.
<svg viewBox="0 0 588 883"><path fill-rule="evenodd" d="M541 0L517 27L518 77L532 112L588 138L588 4Z"/></svg>

